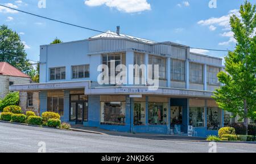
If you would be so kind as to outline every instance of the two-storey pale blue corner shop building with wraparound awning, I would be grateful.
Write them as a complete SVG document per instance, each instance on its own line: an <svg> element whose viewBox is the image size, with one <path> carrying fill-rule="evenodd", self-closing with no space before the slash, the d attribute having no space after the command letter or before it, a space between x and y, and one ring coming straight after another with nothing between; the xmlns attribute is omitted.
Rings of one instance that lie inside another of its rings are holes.
<svg viewBox="0 0 256 164"><path fill-rule="evenodd" d="M134 84L136 77L147 78L147 70L127 69L127 84L98 84L98 66L111 62L158 65L159 88ZM224 111L211 98L222 68L221 58L191 53L189 46L108 31L40 46L40 83L10 89L39 92L40 113L54 111L71 124L147 133L167 133L176 125L175 133L184 134L193 126L197 136L207 136L225 123Z"/></svg>

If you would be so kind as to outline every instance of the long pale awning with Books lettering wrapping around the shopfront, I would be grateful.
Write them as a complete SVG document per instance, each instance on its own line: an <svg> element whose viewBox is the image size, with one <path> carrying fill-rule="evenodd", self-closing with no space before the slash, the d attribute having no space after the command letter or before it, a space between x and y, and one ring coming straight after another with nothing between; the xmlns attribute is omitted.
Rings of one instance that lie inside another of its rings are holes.
<svg viewBox="0 0 256 164"><path fill-rule="evenodd" d="M191 90L179 88L158 88L150 90L148 87L114 86L114 87L91 87L91 81L68 81L56 83L35 83L11 85L11 91L34 91L61 90L61 89L84 89L87 95L98 94L147 94L159 96L182 96L182 97L203 97L210 98L213 92L205 90Z"/></svg>

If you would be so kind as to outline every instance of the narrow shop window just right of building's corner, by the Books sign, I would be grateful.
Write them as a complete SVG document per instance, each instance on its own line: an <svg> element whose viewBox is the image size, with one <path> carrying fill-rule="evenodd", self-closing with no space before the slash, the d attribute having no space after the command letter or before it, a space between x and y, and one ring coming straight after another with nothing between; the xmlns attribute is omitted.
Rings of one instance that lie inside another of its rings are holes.
<svg viewBox="0 0 256 164"><path fill-rule="evenodd" d="M133 121L135 126L146 124L146 102L134 102Z"/></svg>

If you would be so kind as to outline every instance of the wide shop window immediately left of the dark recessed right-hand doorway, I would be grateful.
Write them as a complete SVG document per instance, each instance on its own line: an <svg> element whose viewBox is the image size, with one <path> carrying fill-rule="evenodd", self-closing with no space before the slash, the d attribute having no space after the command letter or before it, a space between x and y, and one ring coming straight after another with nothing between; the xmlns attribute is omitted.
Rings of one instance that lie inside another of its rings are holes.
<svg viewBox="0 0 256 164"><path fill-rule="evenodd" d="M148 103L148 124L163 125L168 123L168 103Z"/></svg>

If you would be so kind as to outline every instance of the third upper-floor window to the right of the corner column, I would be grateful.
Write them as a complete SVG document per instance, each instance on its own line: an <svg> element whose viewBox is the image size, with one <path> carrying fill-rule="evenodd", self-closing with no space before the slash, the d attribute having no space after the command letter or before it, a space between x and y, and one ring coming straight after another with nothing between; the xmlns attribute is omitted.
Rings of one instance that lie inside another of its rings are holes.
<svg viewBox="0 0 256 164"><path fill-rule="evenodd" d="M171 80L185 81L185 62L171 59Z"/></svg>

